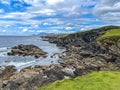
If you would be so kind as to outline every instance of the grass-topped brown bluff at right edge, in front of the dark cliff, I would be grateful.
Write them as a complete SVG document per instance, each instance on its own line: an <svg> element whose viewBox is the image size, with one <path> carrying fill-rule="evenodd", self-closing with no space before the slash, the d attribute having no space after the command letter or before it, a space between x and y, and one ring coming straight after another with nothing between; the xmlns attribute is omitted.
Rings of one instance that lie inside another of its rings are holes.
<svg viewBox="0 0 120 90"><path fill-rule="evenodd" d="M100 45L115 55L120 55L120 29L112 29L98 38Z"/></svg>

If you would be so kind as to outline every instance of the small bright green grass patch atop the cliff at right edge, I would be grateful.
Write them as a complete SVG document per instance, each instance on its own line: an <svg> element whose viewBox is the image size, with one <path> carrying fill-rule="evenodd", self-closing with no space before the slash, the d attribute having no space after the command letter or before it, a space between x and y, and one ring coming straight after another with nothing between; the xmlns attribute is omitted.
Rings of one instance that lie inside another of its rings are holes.
<svg viewBox="0 0 120 90"><path fill-rule="evenodd" d="M109 37L120 37L120 29L107 31L103 36L101 36L102 39Z"/></svg>

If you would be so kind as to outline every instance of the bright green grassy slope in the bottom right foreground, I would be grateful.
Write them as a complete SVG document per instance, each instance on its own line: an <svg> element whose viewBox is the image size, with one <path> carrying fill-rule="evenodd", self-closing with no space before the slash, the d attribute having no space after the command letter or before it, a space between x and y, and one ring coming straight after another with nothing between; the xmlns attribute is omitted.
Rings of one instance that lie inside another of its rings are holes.
<svg viewBox="0 0 120 90"><path fill-rule="evenodd" d="M65 79L38 90L120 90L120 72L93 72L75 79Z"/></svg>

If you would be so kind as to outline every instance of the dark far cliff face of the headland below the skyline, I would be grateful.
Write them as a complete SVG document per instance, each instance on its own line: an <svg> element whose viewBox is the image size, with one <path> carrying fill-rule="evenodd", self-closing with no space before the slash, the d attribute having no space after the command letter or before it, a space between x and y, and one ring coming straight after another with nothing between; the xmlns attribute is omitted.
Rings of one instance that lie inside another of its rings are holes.
<svg viewBox="0 0 120 90"><path fill-rule="evenodd" d="M48 37L49 41L52 43L56 43L57 45L63 45L63 46L68 46L68 45L74 45L74 46L81 46L81 44L85 43L91 43L96 40L97 37L100 35L103 35L106 31L111 30L111 29L117 29L119 27L117 26L106 26L98 29L93 29L90 31L85 31L85 32L78 32L74 34L69 34L69 35L58 35L58 36L53 36L53 37Z"/></svg>

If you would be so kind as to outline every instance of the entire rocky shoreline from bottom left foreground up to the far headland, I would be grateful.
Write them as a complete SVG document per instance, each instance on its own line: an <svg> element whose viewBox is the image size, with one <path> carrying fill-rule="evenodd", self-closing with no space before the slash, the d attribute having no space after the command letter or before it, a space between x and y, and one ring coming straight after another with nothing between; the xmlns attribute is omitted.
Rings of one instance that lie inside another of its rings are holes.
<svg viewBox="0 0 120 90"><path fill-rule="evenodd" d="M120 39L117 46L98 39L106 31L116 28L119 27L107 26L66 36L42 37L66 48L66 54L59 56L59 64L31 66L20 72L16 72L14 66L8 66L0 70L1 90L36 90L56 80L74 78L92 71L119 71Z"/></svg>

